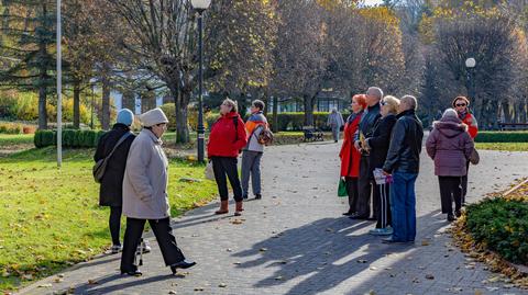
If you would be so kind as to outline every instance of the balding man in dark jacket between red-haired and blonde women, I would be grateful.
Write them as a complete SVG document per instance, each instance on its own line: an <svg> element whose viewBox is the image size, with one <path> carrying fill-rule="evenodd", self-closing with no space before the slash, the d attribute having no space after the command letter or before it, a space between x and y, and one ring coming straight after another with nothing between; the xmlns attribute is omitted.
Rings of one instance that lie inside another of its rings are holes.
<svg viewBox="0 0 528 295"><path fill-rule="evenodd" d="M371 218L371 197L372 197L372 182L374 175L371 169L371 157L364 145L364 140L372 137L377 122L381 118L380 101L383 98L383 91L377 87L371 87L366 91L366 103L369 107L361 117L359 133L355 135L355 148L361 151L360 177L359 183L359 198L358 213L350 216L352 219L367 219ZM373 201L374 208L376 208L377 200ZM372 219L376 219L376 212Z"/></svg>

